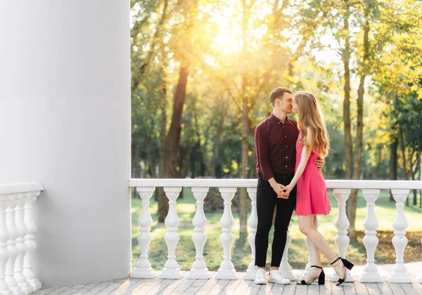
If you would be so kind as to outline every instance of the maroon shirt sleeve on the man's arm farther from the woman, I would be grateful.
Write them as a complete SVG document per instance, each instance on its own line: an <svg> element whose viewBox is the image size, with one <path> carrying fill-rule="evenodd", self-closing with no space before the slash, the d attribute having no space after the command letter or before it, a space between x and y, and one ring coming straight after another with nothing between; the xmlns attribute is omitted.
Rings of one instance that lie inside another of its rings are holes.
<svg viewBox="0 0 422 295"><path fill-rule="evenodd" d="M255 150L257 151L257 166L264 181L274 177L269 163L267 131L264 126L258 125L255 129Z"/></svg>

